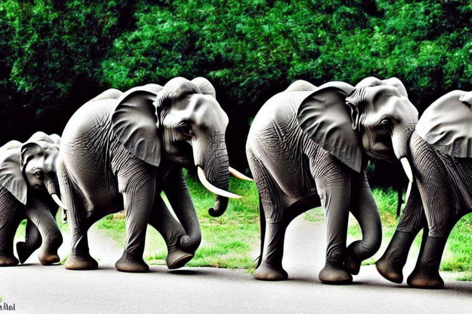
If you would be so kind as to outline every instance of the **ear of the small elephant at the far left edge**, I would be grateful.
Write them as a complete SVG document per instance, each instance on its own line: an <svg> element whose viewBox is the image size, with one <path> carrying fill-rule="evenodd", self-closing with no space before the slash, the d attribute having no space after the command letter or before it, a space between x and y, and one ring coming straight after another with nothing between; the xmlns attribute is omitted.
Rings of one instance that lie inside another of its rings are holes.
<svg viewBox="0 0 472 314"><path fill-rule="evenodd" d="M7 144L3 147L6 147ZM20 147L0 152L0 184L10 191L18 201L26 205L28 184L21 172L20 156Z"/></svg>

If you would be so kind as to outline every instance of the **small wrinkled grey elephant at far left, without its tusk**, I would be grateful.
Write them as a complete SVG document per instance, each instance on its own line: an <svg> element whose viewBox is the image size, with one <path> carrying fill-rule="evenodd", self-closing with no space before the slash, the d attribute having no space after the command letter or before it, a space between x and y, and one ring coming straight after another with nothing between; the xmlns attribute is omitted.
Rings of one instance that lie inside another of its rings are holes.
<svg viewBox="0 0 472 314"><path fill-rule="evenodd" d="M10 141L0 147L0 266L18 264L13 238L23 219L28 222L26 242L17 243L20 262L39 247L42 264L60 262L62 236L55 218L58 206L50 196L59 195L59 141L57 134L36 132L25 143Z"/></svg>

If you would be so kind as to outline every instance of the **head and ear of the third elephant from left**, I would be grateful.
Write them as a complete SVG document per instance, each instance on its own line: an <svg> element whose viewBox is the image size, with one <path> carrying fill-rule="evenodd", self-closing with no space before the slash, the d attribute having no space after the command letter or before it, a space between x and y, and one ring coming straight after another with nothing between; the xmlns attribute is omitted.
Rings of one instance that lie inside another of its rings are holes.
<svg viewBox="0 0 472 314"><path fill-rule="evenodd" d="M360 172L366 158L408 162L408 139L418 111L398 78L365 78L355 87L329 82L306 97L298 122L331 155ZM407 174L411 177L411 168ZM407 171L407 170L406 170Z"/></svg>

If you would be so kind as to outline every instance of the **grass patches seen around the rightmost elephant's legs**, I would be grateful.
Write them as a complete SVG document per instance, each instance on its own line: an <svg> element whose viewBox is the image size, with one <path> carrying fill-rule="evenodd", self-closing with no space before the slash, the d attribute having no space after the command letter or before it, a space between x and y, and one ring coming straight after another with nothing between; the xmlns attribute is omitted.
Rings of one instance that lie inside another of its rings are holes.
<svg viewBox="0 0 472 314"><path fill-rule="evenodd" d="M370 260L362 264L372 264L377 261L390 242L399 218L396 218L397 192L392 188L373 190L373 195L379 207L382 219L383 239L379 251ZM404 206L404 205L403 205ZM351 240L362 237L359 225L352 219L349 226L349 236ZM421 246L422 231L415 237L409 258L416 259ZM350 242L348 240L348 242ZM472 281L472 215L464 216L452 230L442 255L440 269L443 271L465 271L466 274L458 280Z"/></svg>

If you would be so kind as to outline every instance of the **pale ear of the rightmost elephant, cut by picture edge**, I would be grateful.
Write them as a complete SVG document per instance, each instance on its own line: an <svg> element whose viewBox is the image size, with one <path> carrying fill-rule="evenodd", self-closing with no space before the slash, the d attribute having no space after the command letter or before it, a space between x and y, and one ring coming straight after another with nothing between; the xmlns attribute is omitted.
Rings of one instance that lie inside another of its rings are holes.
<svg viewBox="0 0 472 314"><path fill-rule="evenodd" d="M443 154L472 157L472 110L466 92L449 92L431 104L416 124L416 132Z"/></svg>

